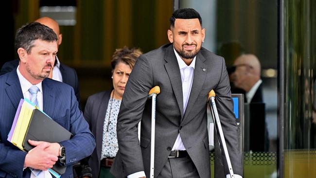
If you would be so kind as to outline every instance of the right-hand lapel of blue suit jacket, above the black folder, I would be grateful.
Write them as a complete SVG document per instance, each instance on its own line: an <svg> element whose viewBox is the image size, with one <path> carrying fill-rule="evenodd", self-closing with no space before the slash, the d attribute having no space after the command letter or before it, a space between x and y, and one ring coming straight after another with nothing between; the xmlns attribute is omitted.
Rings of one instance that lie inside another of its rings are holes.
<svg viewBox="0 0 316 178"><path fill-rule="evenodd" d="M53 116L55 109L55 97L56 90L53 91L53 84L50 81L51 79L44 79L42 82L43 88L43 111L49 115Z"/></svg>

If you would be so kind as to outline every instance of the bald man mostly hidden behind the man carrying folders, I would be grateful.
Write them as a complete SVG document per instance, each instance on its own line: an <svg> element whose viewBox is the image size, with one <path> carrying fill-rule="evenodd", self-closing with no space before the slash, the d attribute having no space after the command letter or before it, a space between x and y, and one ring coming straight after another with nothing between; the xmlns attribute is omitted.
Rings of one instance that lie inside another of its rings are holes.
<svg viewBox="0 0 316 178"><path fill-rule="evenodd" d="M58 46L61 44L63 36L59 32L59 25L55 20L53 20L52 18L43 17L43 18L38 18L36 22L46 25L50 27L51 29L53 29L53 31L55 32L58 38L57 40ZM18 67L18 62L19 60L16 59L16 60L12 60L12 61L8 61L4 63L1 68L0 75L3 75L9 71L13 71L14 69L16 69ZM77 73L74 69L59 62L59 59L57 56L56 56L55 66L53 68L53 79L59 82L64 82L65 84L70 85L74 89L77 101L79 103L78 106L79 108L81 108Z"/></svg>

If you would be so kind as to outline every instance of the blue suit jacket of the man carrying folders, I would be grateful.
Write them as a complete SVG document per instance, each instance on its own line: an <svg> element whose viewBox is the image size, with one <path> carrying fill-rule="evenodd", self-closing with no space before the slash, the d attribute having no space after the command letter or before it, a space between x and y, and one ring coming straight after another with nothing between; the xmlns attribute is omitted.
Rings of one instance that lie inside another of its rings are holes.
<svg viewBox="0 0 316 178"><path fill-rule="evenodd" d="M78 108L73 89L64 83L46 78L42 81L43 111L74 136L61 142L66 148L67 169L62 178L72 178L72 163L89 156L95 140L88 123ZM0 76L0 178L29 178L23 171L26 152L7 141L18 103L23 93L16 70ZM5 158L5 159L2 159Z"/></svg>

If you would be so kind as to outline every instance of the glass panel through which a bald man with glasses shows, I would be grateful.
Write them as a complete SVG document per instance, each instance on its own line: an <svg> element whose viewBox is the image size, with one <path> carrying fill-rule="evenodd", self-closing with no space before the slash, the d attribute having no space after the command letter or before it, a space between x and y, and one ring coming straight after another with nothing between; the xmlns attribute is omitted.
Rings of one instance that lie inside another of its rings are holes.
<svg viewBox="0 0 316 178"><path fill-rule="evenodd" d="M228 71L243 70L244 75L231 72L230 79L232 92L244 93L245 101L248 99L244 122L244 178L276 178L278 1L179 0L179 7L194 8L200 13L206 28L204 48L224 56ZM236 59L242 54L251 55L243 56L246 59L239 59L242 62L237 64ZM256 58L261 67L252 63ZM231 68L234 65L235 68ZM262 84L257 84L256 90L253 86L259 78ZM256 93L252 99L248 96L251 88ZM216 167L216 148L211 156L215 157L211 159L212 178L214 171L215 178L223 177Z"/></svg>

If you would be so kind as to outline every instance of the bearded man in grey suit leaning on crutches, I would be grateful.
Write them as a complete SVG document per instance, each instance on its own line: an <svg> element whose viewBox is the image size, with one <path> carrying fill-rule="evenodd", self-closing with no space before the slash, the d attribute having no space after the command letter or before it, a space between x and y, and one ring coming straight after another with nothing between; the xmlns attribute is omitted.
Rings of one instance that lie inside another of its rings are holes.
<svg viewBox="0 0 316 178"><path fill-rule="evenodd" d="M176 10L170 22L171 44L140 55L129 76L117 121L119 151L111 173L117 178L149 177L151 101L147 95L159 86L155 178L211 177L206 113L211 89L216 92L230 160L238 174L235 178L241 178L242 160L237 151L237 126L225 61L201 47L205 29L194 9Z"/></svg>

